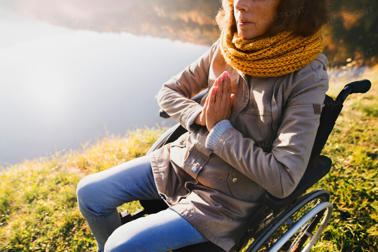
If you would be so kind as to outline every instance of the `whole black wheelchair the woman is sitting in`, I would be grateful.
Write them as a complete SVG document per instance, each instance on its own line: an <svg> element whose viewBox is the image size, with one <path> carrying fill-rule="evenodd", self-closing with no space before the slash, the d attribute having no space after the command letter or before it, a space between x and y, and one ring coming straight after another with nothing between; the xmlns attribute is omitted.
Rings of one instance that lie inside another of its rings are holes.
<svg viewBox="0 0 378 252"><path fill-rule="evenodd" d="M331 169L332 160L326 156L321 156L320 153L335 126L345 99L352 93L366 93L370 87L371 82L364 79L347 84L336 100L328 95L325 96L325 106L321 111L319 128L310 160L296 189L283 199L276 198L265 191L262 207L245 224L239 240L229 252L239 252L250 243L249 241L252 242L245 250L246 252L308 252L311 249L327 226L332 215L333 205L329 202L330 193L326 190L318 189L305 193ZM192 100L200 103L206 92L207 89L201 91ZM161 117L169 118L169 115L162 109L159 113ZM180 123L176 124L152 145L147 155L167 143L174 142L185 132L187 130ZM141 200L139 202L143 206L143 210L131 214L127 211L120 213L122 224L168 208L163 199ZM201 251L221 252L225 250L211 241L173 250L173 252Z"/></svg>

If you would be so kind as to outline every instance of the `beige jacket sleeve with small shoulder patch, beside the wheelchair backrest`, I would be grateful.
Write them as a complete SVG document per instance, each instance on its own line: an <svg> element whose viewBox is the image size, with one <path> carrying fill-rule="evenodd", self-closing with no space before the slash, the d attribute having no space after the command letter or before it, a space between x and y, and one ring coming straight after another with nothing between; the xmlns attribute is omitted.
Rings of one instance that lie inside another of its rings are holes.
<svg viewBox="0 0 378 252"><path fill-rule="evenodd" d="M324 107L327 90L328 79L317 79L302 87L300 95L288 102L270 153L263 152L253 139L244 137L235 128L222 132L214 153L273 196L287 197L306 170L320 118L313 104Z"/></svg>

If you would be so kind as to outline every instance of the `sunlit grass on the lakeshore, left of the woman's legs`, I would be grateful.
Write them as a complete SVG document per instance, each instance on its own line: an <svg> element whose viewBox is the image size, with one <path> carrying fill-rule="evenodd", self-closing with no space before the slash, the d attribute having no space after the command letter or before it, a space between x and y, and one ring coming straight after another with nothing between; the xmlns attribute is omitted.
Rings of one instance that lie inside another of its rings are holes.
<svg viewBox="0 0 378 252"><path fill-rule="evenodd" d="M96 241L77 208L77 183L88 174L145 156L165 130L110 135L88 149L7 168L0 176L0 251L95 251ZM139 202L130 202L119 210L133 213L139 208Z"/></svg>

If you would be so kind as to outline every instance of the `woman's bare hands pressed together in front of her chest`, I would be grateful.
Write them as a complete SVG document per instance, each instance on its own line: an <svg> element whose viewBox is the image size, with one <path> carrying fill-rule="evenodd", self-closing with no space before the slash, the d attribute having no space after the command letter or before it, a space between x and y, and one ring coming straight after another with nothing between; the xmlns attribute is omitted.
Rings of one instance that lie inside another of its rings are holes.
<svg viewBox="0 0 378 252"><path fill-rule="evenodd" d="M223 72L211 87L208 97L200 114L194 122L206 126L209 131L218 122L228 119L235 95L231 93L231 78L227 72Z"/></svg>

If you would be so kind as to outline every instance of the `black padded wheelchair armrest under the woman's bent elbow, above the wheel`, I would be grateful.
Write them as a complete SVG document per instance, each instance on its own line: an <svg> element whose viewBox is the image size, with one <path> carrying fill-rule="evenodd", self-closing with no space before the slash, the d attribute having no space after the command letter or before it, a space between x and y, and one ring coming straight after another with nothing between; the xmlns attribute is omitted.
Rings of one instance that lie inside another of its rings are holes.
<svg viewBox="0 0 378 252"><path fill-rule="evenodd" d="M322 179L330 170L332 160L326 156L315 156L308 162L305 173L295 190L286 198L280 199L274 197L266 191L263 195L263 201L266 206L272 210L284 208L295 201L301 194L305 193L308 188L312 187L316 182Z"/></svg>

